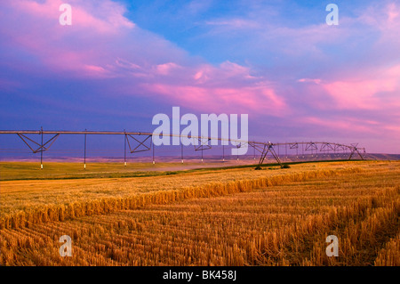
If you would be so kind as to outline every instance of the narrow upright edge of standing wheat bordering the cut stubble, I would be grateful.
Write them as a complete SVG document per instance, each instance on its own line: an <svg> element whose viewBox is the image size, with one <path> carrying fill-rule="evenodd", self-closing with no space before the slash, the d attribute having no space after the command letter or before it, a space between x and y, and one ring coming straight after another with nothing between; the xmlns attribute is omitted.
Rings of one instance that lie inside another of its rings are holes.
<svg viewBox="0 0 400 284"><path fill-rule="evenodd" d="M331 176L335 174L357 174L360 168L346 168L339 170L321 169L304 173L277 174L260 177L252 180L237 180L228 183L208 183L203 186L181 187L176 190L151 191L148 193L134 194L127 197L114 197L107 199L93 199L75 201L66 205L44 205L41 207L27 208L11 215L2 215L0 230L28 227L35 223L51 221L66 221L84 215L101 215L115 212L116 210L134 209L150 204L168 204L182 199L210 198L228 195L236 192L253 191L263 187L277 184L302 182L310 178ZM44 193L45 194L45 193Z"/></svg>

